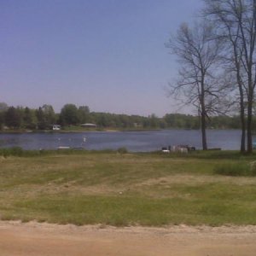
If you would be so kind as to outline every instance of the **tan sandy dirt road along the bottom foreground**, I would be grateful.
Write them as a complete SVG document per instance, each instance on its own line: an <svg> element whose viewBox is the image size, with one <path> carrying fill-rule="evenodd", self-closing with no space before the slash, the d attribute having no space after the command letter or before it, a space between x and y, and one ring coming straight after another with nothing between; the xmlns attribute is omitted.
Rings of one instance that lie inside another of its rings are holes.
<svg viewBox="0 0 256 256"><path fill-rule="evenodd" d="M256 227L166 228L0 221L1 256L255 256Z"/></svg>

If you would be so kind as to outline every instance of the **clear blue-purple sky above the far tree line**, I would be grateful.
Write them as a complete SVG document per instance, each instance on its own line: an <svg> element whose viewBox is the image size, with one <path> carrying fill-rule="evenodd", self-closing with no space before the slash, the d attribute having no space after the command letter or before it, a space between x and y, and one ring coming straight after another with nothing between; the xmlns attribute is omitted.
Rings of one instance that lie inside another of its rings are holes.
<svg viewBox="0 0 256 256"><path fill-rule="evenodd" d="M183 113L165 44L201 0L0 0L0 102L55 112Z"/></svg>

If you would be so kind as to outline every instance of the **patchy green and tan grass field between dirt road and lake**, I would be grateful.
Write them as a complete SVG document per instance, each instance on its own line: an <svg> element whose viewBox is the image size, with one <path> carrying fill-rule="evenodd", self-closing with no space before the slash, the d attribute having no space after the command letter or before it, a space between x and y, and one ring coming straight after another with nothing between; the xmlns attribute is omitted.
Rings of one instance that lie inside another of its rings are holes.
<svg viewBox="0 0 256 256"><path fill-rule="evenodd" d="M254 158L123 150L2 154L0 218L116 226L256 224L256 177L216 172L243 170Z"/></svg>

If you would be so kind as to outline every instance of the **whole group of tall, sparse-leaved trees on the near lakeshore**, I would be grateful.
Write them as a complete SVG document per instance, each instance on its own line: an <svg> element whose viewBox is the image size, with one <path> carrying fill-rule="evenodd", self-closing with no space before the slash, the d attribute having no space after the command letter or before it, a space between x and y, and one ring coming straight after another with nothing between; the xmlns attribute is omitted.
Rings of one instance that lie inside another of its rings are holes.
<svg viewBox="0 0 256 256"><path fill-rule="evenodd" d="M183 23L167 42L177 56L170 95L194 106L202 148L212 114L239 113L241 152L253 151L256 86L256 0L203 0L194 26Z"/></svg>

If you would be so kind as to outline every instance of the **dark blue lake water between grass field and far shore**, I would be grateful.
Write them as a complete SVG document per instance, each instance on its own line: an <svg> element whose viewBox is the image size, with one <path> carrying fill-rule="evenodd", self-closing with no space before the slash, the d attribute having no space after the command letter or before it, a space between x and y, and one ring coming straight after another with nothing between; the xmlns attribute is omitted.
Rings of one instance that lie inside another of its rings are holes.
<svg viewBox="0 0 256 256"><path fill-rule="evenodd" d="M239 149L241 131L207 131L208 148ZM86 149L127 148L129 151L154 151L162 147L189 144L201 148L201 132L194 130L20 133L0 134L0 148L55 149L60 146Z"/></svg>

